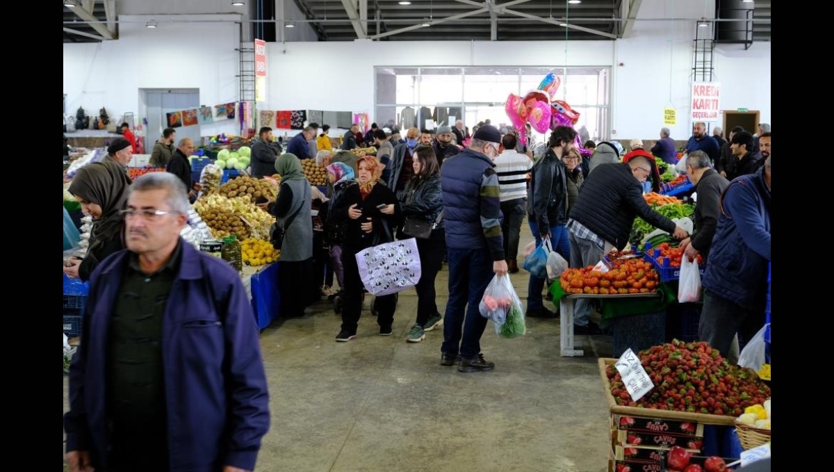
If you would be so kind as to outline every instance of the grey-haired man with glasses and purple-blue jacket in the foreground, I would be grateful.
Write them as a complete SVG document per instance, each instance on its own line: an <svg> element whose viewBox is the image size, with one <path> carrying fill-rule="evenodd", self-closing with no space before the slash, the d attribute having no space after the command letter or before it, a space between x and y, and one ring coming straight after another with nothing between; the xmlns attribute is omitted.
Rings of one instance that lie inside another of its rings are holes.
<svg viewBox="0 0 834 472"><path fill-rule="evenodd" d="M70 366L70 470L253 470L269 394L239 275L179 237L177 176L136 179L123 214L128 249L93 271Z"/></svg>

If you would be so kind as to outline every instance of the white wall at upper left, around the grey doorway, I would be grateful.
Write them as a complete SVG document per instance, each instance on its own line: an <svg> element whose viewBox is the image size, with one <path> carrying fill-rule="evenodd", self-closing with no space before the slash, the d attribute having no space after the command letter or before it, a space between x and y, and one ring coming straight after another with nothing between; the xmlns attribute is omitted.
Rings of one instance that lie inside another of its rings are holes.
<svg viewBox="0 0 834 472"><path fill-rule="evenodd" d="M158 18L158 28L145 28ZM165 23L164 17L119 17L119 38L102 43L63 44L63 93L67 111L79 106L97 115L105 106L113 119L133 112L143 117L140 88L199 88L208 106L239 98L239 15L191 15L178 20L224 23ZM200 125L203 136L239 133L236 121Z"/></svg>

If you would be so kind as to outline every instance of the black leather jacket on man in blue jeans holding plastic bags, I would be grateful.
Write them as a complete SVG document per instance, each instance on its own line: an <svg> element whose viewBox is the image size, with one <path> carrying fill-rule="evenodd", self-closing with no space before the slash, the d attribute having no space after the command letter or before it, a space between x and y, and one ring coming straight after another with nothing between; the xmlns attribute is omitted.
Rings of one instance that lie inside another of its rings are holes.
<svg viewBox="0 0 834 472"><path fill-rule="evenodd" d="M535 218L540 235L550 233L551 226L567 222L565 164L553 149L533 166L527 196L527 214Z"/></svg>

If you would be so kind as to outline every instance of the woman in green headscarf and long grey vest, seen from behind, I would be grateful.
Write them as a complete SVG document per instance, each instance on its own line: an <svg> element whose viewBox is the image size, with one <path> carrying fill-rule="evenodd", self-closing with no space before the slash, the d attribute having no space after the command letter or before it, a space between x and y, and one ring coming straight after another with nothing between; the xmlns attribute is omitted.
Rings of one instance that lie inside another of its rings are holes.
<svg viewBox="0 0 834 472"><path fill-rule="evenodd" d="M281 315L304 316L304 308L319 292L313 282L312 192L295 154L281 154L275 161L275 171L281 175L281 186L270 213L284 227L278 276Z"/></svg>

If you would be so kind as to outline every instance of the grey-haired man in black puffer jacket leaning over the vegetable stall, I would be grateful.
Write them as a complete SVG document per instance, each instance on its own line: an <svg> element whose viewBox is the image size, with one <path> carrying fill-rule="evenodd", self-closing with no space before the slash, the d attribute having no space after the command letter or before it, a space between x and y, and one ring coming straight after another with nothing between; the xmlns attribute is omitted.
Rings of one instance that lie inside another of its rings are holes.
<svg viewBox="0 0 834 472"><path fill-rule="evenodd" d="M594 265L611 249L625 249L636 216L677 239L686 238L684 228L656 213L643 198L643 183L650 175L651 163L642 156L628 163L601 164L588 175L568 218L570 267ZM575 334L600 334L599 326L590 321L588 301L576 300Z"/></svg>

